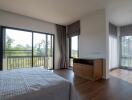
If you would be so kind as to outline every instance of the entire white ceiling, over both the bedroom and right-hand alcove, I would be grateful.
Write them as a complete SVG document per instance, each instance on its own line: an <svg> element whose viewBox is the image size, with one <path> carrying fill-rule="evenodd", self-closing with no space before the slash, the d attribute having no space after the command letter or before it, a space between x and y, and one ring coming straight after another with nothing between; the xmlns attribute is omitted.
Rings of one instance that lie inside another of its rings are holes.
<svg viewBox="0 0 132 100"><path fill-rule="evenodd" d="M132 0L0 0L2 10L61 25L103 8L113 24L132 24Z"/></svg>

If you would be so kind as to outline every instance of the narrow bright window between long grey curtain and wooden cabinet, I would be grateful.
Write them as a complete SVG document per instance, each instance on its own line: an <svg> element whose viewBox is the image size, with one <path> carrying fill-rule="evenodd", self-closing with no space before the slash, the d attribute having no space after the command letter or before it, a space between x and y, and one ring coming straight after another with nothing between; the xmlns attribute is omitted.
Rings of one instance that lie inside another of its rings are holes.
<svg viewBox="0 0 132 100"><path fill-rule="evenodd" d="M77 58L78 57L78 36L73 36L70 37L70 50L69 50L69 54L70 54L70 66L73 66L73 58Z"/></svg>

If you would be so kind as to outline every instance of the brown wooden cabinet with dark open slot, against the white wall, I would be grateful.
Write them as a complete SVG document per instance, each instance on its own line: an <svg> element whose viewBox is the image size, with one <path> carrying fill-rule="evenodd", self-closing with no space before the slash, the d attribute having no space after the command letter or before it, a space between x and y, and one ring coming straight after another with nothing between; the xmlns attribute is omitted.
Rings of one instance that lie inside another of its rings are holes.
<svg viewBox="0 0 132 100"><path fill-rule="evenodd" d="M73 71L76 76L96 81L103 75L103 59L73 59Z"/></svg>

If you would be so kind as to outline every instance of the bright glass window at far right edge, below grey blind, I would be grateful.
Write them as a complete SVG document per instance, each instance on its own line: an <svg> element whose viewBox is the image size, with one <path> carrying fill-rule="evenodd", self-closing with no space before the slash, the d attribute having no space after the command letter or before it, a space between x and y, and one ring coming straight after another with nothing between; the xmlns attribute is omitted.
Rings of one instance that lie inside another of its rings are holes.
<svg viewBox="0 0 132 100"><path fill-rule="evenodd" d="M132 69L132 36L121 37L121 57L122 68Z"/></svg>

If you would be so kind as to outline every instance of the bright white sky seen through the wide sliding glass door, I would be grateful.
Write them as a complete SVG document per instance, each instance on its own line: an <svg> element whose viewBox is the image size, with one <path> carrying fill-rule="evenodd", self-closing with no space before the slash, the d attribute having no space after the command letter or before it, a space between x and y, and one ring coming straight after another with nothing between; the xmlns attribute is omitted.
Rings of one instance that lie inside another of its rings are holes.
<svg viewBox="0 0 132 100"><path fill-rule="evenodd" d="M12 46L16 46L21 44L23 46L30 45L32 46L32 32L6 29L6 37L9 36L13 39ZM34 33L34 44L40 43L42 40L46 40L45 34ZM48 35L48 40L50 40L50 36Z"/></svg>

